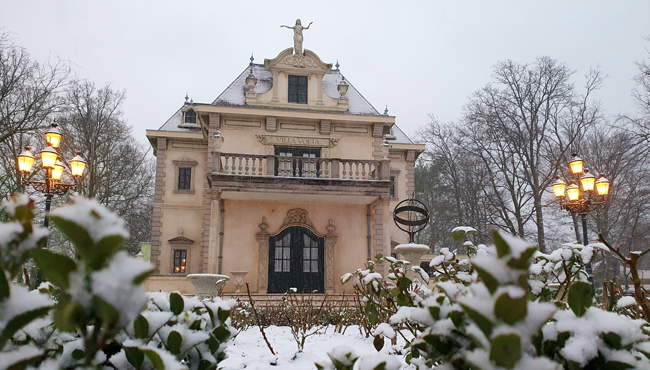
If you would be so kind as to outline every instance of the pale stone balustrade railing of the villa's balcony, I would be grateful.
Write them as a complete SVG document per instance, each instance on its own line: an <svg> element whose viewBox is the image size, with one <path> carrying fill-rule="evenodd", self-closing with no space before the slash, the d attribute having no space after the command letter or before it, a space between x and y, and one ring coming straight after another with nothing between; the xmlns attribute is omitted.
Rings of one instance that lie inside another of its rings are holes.
<svg viewBox="0 0 650 370"><path fill-rule="evenodd" d="M286 157L215 153L215 172L224 175L310 179L389 180L389 160ZM383 166L383 167L382 167Z"/></svg>

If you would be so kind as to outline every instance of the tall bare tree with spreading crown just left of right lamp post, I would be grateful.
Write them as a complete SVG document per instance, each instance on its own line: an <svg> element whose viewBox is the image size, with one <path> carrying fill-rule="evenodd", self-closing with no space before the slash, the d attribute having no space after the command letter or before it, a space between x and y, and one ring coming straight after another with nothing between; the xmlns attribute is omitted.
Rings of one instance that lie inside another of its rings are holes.
<svg viewBox="0 0 650 370"><path fill-rule="evenodd" d="M543 196L575 141L599 119L599 107L590 96L600 87L602 74L598 70L587 74L582 94L570 81L573 74L567 65L549 57L537 58L532 64L499 62L493 72L494 84L472 96L463 117L470 129L480 126L488 131L489 135L477 139L492 140L492 146L482 144L485 148L477 149L498 153L484 157L490 163L487 167L501 173L502 181L513 181L504 190L512 192L516 181L525 184L524 193L533 200L533 221L542 251L546 250ZM510 198L515 199L512 193ZM523 193L516 199L516 206L527 202ZM525 221L524 215L517 217ZM518 227L517 231L523 230Z"/></svg>

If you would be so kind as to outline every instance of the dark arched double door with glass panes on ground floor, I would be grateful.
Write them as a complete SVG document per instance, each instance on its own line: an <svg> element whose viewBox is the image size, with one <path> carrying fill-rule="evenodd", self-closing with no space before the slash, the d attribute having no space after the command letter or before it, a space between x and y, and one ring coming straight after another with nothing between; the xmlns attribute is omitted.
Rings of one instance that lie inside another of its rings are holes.
<svg viewBox="0 0 650 370"><path fill-rule="evenodd" d="M269 293L324 293L324 239L293 226L269 238Z"/></svg>

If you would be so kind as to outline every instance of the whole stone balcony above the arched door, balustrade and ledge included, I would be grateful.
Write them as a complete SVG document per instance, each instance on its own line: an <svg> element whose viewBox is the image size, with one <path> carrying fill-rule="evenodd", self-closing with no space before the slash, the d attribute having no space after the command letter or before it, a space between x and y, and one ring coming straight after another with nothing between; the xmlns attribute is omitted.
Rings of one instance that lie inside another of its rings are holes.
<svg viewBox="0 0 650 370"><path fill-rule="evenodd" d="M390 193L390 160L214 153L215 190L342 196Z"/></svg>

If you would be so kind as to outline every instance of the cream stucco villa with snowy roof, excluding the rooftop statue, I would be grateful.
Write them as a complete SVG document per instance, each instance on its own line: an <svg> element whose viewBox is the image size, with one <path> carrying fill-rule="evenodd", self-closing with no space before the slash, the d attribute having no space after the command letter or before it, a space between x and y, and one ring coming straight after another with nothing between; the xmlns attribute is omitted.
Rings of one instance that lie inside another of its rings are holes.
<svg viewBox="0 0 650 370"><path fill-rule="evenodd" d="M424 146L309 50L251 62L214 102L186 99L147 137L149 290L193 293L186 274L247 271L256 293L340 293L341 275L407 241L391 212Z"/></svg>

